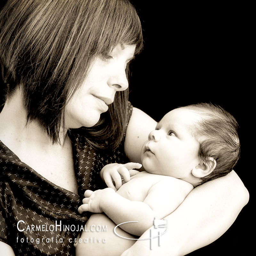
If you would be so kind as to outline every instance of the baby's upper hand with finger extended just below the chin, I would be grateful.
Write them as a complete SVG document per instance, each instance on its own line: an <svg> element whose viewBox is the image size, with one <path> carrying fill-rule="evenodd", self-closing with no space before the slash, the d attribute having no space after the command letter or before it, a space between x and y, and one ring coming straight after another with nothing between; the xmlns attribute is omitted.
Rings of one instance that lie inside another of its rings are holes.
<svg viewBox="0 0 256 256"><path fill-rule="evenodd" d="M139 163L107 164L102 168L100 177L109 188L113 188L116 191L122 186L122 179L124 179L124 182L131 180L130 177L139 172L132 169L139 169L141 166L142 164ZM116 187L113 181L115 181Z"/></svg>

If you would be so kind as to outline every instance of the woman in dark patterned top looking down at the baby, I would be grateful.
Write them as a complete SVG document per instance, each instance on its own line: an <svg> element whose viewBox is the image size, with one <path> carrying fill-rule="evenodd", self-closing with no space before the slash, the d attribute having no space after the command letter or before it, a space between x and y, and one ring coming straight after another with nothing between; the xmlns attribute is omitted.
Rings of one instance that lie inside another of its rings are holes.
<svg viewBox="0 0 256 256"><path fill-rule="evenodd" d="M89 217L77 213L84 190L102 188L105 164L139 162L156 126L128 103L140 20L125 0L10 1L1 29L1 251L72 255ZM167 216L168 247L151 253L184 255L211 243L247 201L235 172L194 189ZM125 253L134 252L148 255L148 246L139 240Z"/></svg>

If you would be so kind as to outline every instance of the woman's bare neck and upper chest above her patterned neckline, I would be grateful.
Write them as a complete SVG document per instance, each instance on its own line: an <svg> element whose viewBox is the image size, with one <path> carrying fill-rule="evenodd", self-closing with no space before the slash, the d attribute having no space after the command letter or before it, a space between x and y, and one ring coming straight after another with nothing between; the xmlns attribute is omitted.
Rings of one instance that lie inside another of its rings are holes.
<svg viewBox="0 0 256 256"><path fill-rule="evenodd" d="M65 135L60 144L52 144L37 121L27 123L20 91L0 113L0 140L44 178L77 194L71 141Z"/></svg>

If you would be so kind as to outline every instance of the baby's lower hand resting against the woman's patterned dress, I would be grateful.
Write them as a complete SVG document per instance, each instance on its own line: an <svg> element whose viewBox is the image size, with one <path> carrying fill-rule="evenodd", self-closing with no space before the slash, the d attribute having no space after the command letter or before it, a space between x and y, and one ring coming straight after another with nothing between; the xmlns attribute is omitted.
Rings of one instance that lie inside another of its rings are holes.
<svg viewBox="0 0 256 256"><path fill-rule="evenodd" d="M101 200L104 200L109 193L116 193L112 188L98 189L94 192L92 190L85 190L83 204L79 206L78 212L95 212L101 213Z"/></svg>

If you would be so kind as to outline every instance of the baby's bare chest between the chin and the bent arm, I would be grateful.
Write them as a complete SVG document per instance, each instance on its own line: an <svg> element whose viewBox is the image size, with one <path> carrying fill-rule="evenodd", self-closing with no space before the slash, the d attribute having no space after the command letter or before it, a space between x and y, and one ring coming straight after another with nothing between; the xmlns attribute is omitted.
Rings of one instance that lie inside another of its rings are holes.
<svg viewBox="0 0 256 256"><path fill-rule="evenodd" d="M172 186L173 182L184 183L185 187L191 186L191 184L184 180L164 175L151 174L144 171L132 176L131 180L124 183L116 193L131 201L143 202L148 195L149 189L162 180L167 180L170 186Z"/></svg>

